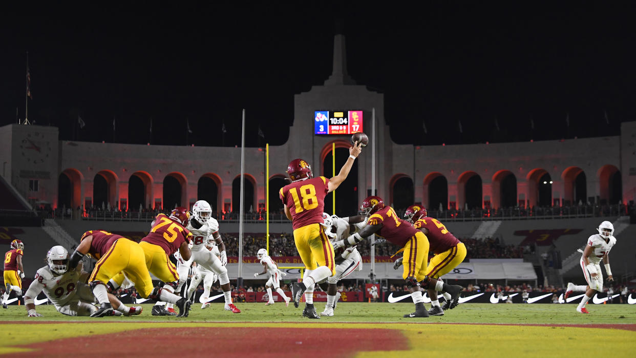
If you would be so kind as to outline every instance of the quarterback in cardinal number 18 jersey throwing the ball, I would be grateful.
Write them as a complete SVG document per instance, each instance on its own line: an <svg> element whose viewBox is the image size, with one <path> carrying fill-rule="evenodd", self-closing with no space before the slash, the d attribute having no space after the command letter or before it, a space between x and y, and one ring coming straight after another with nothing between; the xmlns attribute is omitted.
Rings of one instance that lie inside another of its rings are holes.
<svg viewBox="0 0 636 358"><path fill-rule="evenodd" d="M321 225L324 212L324 198L347 179L354 161L362 151L362 143L354 142L349 148L349 158L337 176L327 179L316 177L312 167L302 159L294 159L287 165L291 184L280 189L285 215L294 229L294 242L298 254L307 267L303 282L291 285L294 307L298 307L300 297L305 293L303 317L319 319L314 307L314 285L336 273L333 261L333 247Z"/></svg>

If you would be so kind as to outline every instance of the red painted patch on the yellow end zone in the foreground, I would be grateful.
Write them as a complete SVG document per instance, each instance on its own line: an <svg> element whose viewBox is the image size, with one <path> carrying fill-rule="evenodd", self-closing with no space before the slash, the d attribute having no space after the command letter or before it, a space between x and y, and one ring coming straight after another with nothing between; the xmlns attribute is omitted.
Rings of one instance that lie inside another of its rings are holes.
<svg viewBox="0 0 636 358"><path fill-rule="evenodd" d="M397 329L175 327L134 329L19 347L34 351L9 356L68 357L76 350L98 356L258 354L324 358L317 348L329 347L329 355L333 357L372 350L404 350L409 344Z"/></svg>

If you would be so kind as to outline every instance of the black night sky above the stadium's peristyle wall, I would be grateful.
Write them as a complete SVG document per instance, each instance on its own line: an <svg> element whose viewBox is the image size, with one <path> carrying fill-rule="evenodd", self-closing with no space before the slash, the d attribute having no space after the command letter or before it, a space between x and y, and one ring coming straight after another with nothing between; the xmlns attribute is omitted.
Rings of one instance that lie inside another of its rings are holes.
<svg viewBox="0 0 636 358"><path fill-rule="evenodd" d="M0 125L24 118L28 51L29 120L60 139L185 145L187 120L188 144L240 145L245 108L248 146L265 142L259 124L284 144L294 93L331 74L335 32L399 144L618 135L636 120L633 2L285 4L3 9Z"/></svg>

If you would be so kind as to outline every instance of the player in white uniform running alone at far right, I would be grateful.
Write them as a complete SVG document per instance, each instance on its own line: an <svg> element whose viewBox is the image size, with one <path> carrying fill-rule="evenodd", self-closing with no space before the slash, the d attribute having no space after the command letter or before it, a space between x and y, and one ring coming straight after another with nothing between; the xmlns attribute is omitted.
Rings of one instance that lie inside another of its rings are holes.
<svg viewBox="0 0 636 358"><path fill-rule="evenodd" d="M585 292L585 296L583 296L579 306L576 308L577 312L580 313L590 313L585 308L585 304L595 293L603 291L603 273L600 270L601 260L605 263L607 280L610 282L614 280L612 270L609 268L609 251L616 244L614 225L609 221L603 221L598 225L597 230L597 234L588 238L588 244L585 246L583 256L581 256L581 269L583 269L583 276L588 282L587 286L577 286L572 284L572 282L568 282L567 289L563 295L563 298L567 299L572 292Z"/></svg>

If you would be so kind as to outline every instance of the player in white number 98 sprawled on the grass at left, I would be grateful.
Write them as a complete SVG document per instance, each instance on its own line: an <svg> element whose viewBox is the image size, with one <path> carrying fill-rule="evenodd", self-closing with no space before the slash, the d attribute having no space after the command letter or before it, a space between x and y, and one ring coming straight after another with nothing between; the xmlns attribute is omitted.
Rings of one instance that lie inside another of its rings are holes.
<svg viewBox="0 0 636 358"><path fill-rule="evenodd" d="M69 271L69 252L62 246L53 246L46 253L46 266L36 272L35 279L24 294L24 305L29 317L41 317L36 311L34 298L44 291L46 298L55 305L57 312L69 316L90 316L97 311L93 306L95 296L90 286L84 283L88 273L82 272L81 262L78 270ZM141 306L127 307L112 294L108 294L109 301L116 307L118 315L138 315ZM121 312L121 313L120 313Z"/></svg>

